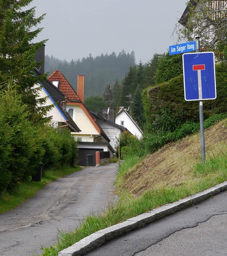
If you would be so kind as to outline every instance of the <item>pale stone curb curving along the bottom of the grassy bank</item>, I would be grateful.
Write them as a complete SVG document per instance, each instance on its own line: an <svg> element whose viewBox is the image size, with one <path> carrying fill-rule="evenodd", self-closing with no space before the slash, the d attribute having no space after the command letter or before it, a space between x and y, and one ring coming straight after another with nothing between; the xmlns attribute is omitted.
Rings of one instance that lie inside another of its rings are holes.
<svg viewBox="0 0 227 256"><path fill-rule="evenodd" d="M109 228L99 230L92 235L89 235L76 244L66 248L59 252L59 256L80 256L86 254L98 247L104 245L107 241L115 239L118 236L127 234L129 231L142 228L143 226L163 218L166 215L175 213L189 207L192 204L197 204L203 200L227 190L227 182L218 184L212 188L206 189L203 192L199 192L195 195L190 195L184 199L180 199L177 202L165 204L159 208L151 210L149 213L143 213L131 219L124 221L123 223L116 224Z"/></svg>

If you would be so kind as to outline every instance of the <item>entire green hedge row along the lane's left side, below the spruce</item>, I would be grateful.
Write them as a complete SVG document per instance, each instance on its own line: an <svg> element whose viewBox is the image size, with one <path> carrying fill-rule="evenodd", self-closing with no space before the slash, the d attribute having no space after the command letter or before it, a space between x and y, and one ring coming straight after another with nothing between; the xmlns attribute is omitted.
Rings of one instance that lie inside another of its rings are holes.
<svg viewBox="0 0 227 256"><path fill-rule="evenodd" d="M44 168L73 165L77 142L68 130L34 125L15 87L0 90L0 192L31 179L40 162Z"/></svg>

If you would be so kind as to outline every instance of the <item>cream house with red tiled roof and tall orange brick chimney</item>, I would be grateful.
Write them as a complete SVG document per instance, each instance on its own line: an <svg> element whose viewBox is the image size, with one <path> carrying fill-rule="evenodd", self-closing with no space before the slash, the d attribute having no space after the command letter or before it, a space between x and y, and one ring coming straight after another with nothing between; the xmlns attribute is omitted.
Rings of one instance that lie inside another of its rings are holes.
<svg viewBox="0 0 227 256"><path fill-rule="evenodd" d="M72 88L70 83L60 72L55 70L48 80L56 86L67 97L66 110L71 119L80 126L80 131L71 132L74 139L77 140L79 148L79 156L81 158L80 165L86 163L86 156L93 155L93 163L95 165L95 152L110 151L110 156L114 154L114 148L110 145L110 139L105 134L100 125L94 120L94 116L84 105L84 75L78 75L77 92ZM86 165L86 164L85 164Z"/></svg>

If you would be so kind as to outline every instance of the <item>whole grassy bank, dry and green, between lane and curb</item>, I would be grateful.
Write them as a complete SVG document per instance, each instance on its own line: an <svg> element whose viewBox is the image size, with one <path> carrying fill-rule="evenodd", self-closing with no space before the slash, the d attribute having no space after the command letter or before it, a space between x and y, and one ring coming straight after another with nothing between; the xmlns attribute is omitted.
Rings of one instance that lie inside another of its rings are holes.
<svg viewBox="0 0 227 256"><path fill-rule="evenodd" d="M43 248L43 256L58 252L109 226L208 189L227 180L226 120L205 132L207 160L201 164L199 134L166 145L139 158L127 156L115 183L119 200L104 213L85 218L70 233L59 233L58 242Z"/></svg>

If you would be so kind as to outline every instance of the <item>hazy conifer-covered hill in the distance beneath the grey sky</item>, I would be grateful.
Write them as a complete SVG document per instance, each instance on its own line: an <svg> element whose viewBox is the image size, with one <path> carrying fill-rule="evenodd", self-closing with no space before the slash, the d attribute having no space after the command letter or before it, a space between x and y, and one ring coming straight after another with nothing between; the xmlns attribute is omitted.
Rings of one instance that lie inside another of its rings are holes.
<svg viewBox="0 0 227 256"><path fill-rule="evenodd" d="M95 58L89 54L87 58L71 62L45 56L45 72L52 74L59 69L74 89L77 87L77 75L85 75L85 98L92 95L103 96L107 83L114 83L116 80L121 83L129 67L134 65L134 51L129 54L122 50L118 55L112 52Z"/></svg>

